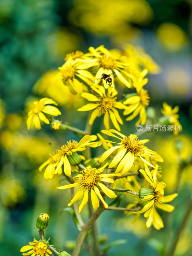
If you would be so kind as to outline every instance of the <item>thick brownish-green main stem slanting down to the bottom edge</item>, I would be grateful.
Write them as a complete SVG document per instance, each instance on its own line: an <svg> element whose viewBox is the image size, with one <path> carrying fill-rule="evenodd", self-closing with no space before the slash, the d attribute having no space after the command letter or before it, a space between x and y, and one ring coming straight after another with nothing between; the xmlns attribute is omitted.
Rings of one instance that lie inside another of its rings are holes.
<svg viewBox="0 0 192 256"><path fill-rule="evenodd" d="M89 229L93 226L96 219L99 217L99 215L105 210L104 205L101 203L99 208L92 214L92 216L89 218L88 222L82 227L79 236L77 238L77 242L75 245L75 248L73 250L72 256L79 256L81 252L81 247L83 245L84 239L87 235L87 232Z"/></svg>

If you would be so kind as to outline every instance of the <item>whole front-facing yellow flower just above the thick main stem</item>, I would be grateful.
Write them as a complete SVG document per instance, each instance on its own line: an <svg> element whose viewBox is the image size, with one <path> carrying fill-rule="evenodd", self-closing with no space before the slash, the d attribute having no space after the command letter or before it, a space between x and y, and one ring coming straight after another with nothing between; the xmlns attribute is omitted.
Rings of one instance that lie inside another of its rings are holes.
<svg viewBox="0 0 192 256"><path fill-rule="evenodd" d="M66 188L73 188L78 186L78 191L72 198L71 202L68 204L68 206L71 206L76 201L79 201L82 196L83 200L79 206L79 213L87 204L88 202L88 192L91 193L91 201L93 204L93 208L96 211L96 209L99 207L99 199L104 204L105 208L108 208L108 204L104 201L104 198L102 197L99 190L102 190L108 197L115 198L117 197L115 193L107 188L102 181L104 182L110 182L113 183L113 189L116 187L116 184L114 183L114 180L109 178L113 176L119 176L118 174L110 173L110 174L100 174L104 171L104 168L107 166L108 163L106 163L103 167L96 169L92 168L90 165L83 169L83 171L80 172L77 176L73 177L73 180L75 181L73 184L65 185L62 187L58 187L59 189L66 189ZM98 188L99 187L99 188Z"/></svg>

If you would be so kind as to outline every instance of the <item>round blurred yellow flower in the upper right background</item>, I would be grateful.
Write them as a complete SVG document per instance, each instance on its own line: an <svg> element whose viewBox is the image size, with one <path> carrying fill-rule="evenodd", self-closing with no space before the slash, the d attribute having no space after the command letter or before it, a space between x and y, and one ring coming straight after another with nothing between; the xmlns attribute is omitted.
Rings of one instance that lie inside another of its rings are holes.
<svg viewBox="0 0 192 256"><path fill-rule="evenodd" d="M181 50L188 41L183 29L173 23L162 23L157 29L157 36L170 52Z"/></svg>

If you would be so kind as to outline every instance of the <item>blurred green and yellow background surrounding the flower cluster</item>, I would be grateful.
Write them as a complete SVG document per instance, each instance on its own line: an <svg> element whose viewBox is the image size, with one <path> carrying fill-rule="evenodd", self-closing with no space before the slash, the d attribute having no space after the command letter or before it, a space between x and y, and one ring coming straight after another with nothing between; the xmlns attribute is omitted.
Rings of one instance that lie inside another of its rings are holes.
<svg viewBox="0 0 192 256"><path fill-rule="evenodd" d="M150 106L160 116L162 102L167 101L172 107L179 105L183 132L178 138L167 133L147 134L147 138L151 140L150 148L164 158L164 180L170 182L167 193L174 190L179 168L176 143L182 145L183 159L192 154L191 5L191 1L181 0L4 0L0 3L2 255L22 255L20 248L34 237L38 239L34 226L41 212L50 215L46 238L51 237L51 244L57 248L70 253L78 235L69 213L59 215L69 202L68 191L65 194L56 191L58 177L47 182L38 172L49 152L78 137L72 132L53 132L46 125L40 131L27 131L26 127L30 102L42 96L33 92L35 83L48 70L61 66L67 53L87 52L89 46L100 44L108 49L123 49L125 44L133 44L142 46L161 66L160 74L147 76L149 82L145 87L151 97ZM62 120L84 129L86 114L77 115L78 101L67 97L61 94L58 99ZM98 129L94 127L93 133ZM135 132L134 121L125 123L122 133L127 129ZM180 173L179 196L173 203L175 210L160 212L165 224L160 231L147 229L144 218L133 225L132 216L104 212L97 223L99 234L104 234L101 240L106 240L103 246L117 239L126 240L123 245L111 247L108 255L165 255L165 247L173 241L185 215L191 184L190 165ZM129 199L124 198L122 204L125 206L127 202ZM83 218L87 214L84 211ZM175 255L191 255L191 230L189 216ZM86 253L84 248L81 255Z"/></svg>

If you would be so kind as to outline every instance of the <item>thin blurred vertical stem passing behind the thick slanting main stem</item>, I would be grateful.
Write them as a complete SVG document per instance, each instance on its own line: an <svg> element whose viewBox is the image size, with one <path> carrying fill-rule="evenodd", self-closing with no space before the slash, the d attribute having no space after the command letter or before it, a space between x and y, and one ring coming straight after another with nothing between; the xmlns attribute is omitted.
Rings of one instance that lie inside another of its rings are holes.
<svg viewBox="0 0 192 256"><path fill-rule="evenodd" d="M88 199L88 210L89 210L89 218L92 216L92 214L94 213L94 209L91 203L91 198L89 197ZM96 230L96 224L94 223L92 228L91 228L91 235L92 235L92 252L93 252L93 256L98 256L100 254L99 252L99 243L98 243L98 238L97 238L97 230Z"/></svg>

